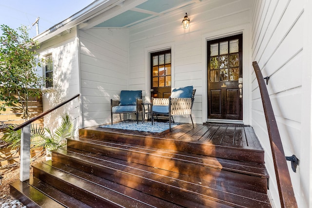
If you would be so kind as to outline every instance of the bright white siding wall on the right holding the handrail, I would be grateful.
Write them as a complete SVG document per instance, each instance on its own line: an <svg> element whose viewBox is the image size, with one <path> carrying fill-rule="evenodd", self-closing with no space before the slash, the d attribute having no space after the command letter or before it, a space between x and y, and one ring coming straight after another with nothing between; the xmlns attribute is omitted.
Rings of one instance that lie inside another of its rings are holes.
<svg viewBox="0 0 312 208"><path fill-rule="evenodd" d="M252 5L252 59L267 85L286 156L295 154L297 172L288 162L298 207L308 208L311 201L311 25L308 0L257 0ZM311 18L311 15L310 15ZM308 36L310 34L310 37ZM310 42L310 45L307 44ZM308 49L308 50L307 50ZM308 51L308 52L307 52ZM307 58L307 55L310 55ZM270 193L280 207L275 171L261 96L252 71L252 126L265 149L270 174ZM307 78L308 77L308 78ZM308 130L307 130L308 129ZM310 199L309 199L310 198Z"/></svg>

